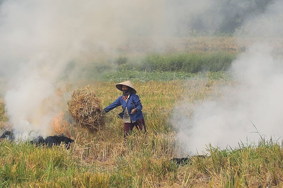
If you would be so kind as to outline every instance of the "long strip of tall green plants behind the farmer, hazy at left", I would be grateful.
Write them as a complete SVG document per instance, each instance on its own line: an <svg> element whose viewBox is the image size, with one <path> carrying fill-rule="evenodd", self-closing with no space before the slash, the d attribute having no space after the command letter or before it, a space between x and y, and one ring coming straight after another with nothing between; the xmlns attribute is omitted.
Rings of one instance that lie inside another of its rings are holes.
<svg viewBox="0 0 283 188"><path fill-rule="evenodd" d="M182 52L152 53L135 57L117 57L107 63L94 66L93 71L147 71L147 72L216 72L228 70L238 53L218 52Z"/></svg>

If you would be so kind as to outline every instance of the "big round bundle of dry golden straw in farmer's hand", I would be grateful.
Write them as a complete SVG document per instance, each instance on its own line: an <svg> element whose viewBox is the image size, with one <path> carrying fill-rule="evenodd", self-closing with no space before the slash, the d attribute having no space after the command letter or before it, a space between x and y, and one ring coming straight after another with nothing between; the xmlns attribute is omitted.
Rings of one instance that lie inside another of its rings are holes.
<svg viewBox="0 0 283 188"><path fill-rule="evenodd" d="M105 112L99 98L89 86L74 90L67 104L70 115L80 127L96 131L104 125Z"/></svg>

